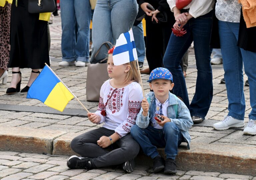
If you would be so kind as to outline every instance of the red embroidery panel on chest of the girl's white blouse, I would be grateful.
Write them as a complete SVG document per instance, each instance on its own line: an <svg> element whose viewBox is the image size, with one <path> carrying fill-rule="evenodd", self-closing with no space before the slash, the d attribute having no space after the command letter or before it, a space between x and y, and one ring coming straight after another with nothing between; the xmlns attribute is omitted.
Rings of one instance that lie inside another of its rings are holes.
<svg viewBox="0 0 256 180"><path fill-rule="evenodd" d="M124 88L122 89L114 89L115 92L111 92L113 88L110 88L110 92L108 94L108 98L110 100L108 101L108 107L109 110L112 111L112 114L115 112L119 112L120 108L123 106L123 93L124 93ZM113 93L111 97L111 93Z"/></svg>

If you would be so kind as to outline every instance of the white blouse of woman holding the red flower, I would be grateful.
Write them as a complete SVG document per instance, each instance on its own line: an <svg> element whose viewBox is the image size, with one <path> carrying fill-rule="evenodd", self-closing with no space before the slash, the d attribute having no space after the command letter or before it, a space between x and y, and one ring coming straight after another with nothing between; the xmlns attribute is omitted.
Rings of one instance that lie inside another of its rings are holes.
<svg viewBox="0 0 256 180"><path fill-rule="evenodd" d="M167 0L172 12L173 8L176 7L175 2L176 0ZM213 6L214 0L192 0L191 3L183 9L189 9L189 14L194 18L197 18L213 10Z"/></svg>

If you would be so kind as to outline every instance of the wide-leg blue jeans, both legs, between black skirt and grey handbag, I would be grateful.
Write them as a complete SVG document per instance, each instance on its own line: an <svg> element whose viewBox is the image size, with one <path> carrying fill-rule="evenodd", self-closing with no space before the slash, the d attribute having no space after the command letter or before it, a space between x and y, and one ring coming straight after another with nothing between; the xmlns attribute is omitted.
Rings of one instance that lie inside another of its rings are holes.
<svg viewBox="0 0 256 180"><path fill-rule="evenodd" d="M90 2L81 0L61 0L60 6L62 23L62 61L89 61Z"/></svg>

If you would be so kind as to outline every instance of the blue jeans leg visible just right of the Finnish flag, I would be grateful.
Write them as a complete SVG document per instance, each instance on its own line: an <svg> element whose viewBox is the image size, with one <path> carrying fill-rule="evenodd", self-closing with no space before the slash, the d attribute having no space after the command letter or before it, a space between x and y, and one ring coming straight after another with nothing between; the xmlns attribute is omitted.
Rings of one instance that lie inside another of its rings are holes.
<svg viewBox="0 0 256 180"><path fill-rule="evenodd" d="M133 32L134 42L137 50L138 61L144 62L146 49L145 49L144 31L143 31L142 22L140 22L137 26L132 26L132 32Z"/></svg>

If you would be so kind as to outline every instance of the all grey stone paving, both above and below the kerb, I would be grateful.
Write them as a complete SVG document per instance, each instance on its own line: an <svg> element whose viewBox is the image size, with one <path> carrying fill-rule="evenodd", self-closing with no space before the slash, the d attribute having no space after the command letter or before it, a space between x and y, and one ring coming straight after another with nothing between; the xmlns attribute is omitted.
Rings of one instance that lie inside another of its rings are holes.
<svg viewBox="0 0 256 180"><path fill-rule="evenodd" d="M87 67L60 67L61 61L61 22L60 17L55 17L53 24L50 25L51 31L51 68L79 98L79 100L94 112L97 109L97 102L86 101L86 76ZM145 64L147 62L145 60ZM210 110L203 123L193 126L190 129L192 142L215 145L232 145L232 147L251 147L256 148L256 136L242 135L243 128L216 131L212 124L223 119L227 115L228 100L225 84L219 84L223 78L224 71L222 65L214 65L213 69L213 100ZM25 87L30 69L22 69L21 88ZM186 84L190 100L195 92L197 69L195 66L195 55L193 47L189 52L189 68L187 70ZM149 92L146 80L148 75L142 75L145 93ZM244 80L247 77L244 76ZM26 99L26 93L16 93L6 95L6 89L11 81L11 69L6 85L0 84L0 128L19 127L29 129L60 130L63 135L58 138L71 138L77 134L100 127L89 122L83 114L83 107L75 100L71 100L63 113L52 110L36 99ZM249 102L249 88L244 87L246 98L245 122L248 122L248 114L251 111ZM203 126L203 127L202 127ZM193 147L192 147L193 148ZM0 149L1 150L1 149ZM18 152L0 151L0 178L3 179L193 179L193 180L219 180L219 179L253 179L252 176L221 174L218 172L200 171L178 171L174 176L164 174L152 174L148 166L137 166L132 174L125 174L119 169L96 169L68 170L66 167L67 158L49 157L42 154L29 154ZM249 167L248 167L249 168Z"/></svg>

